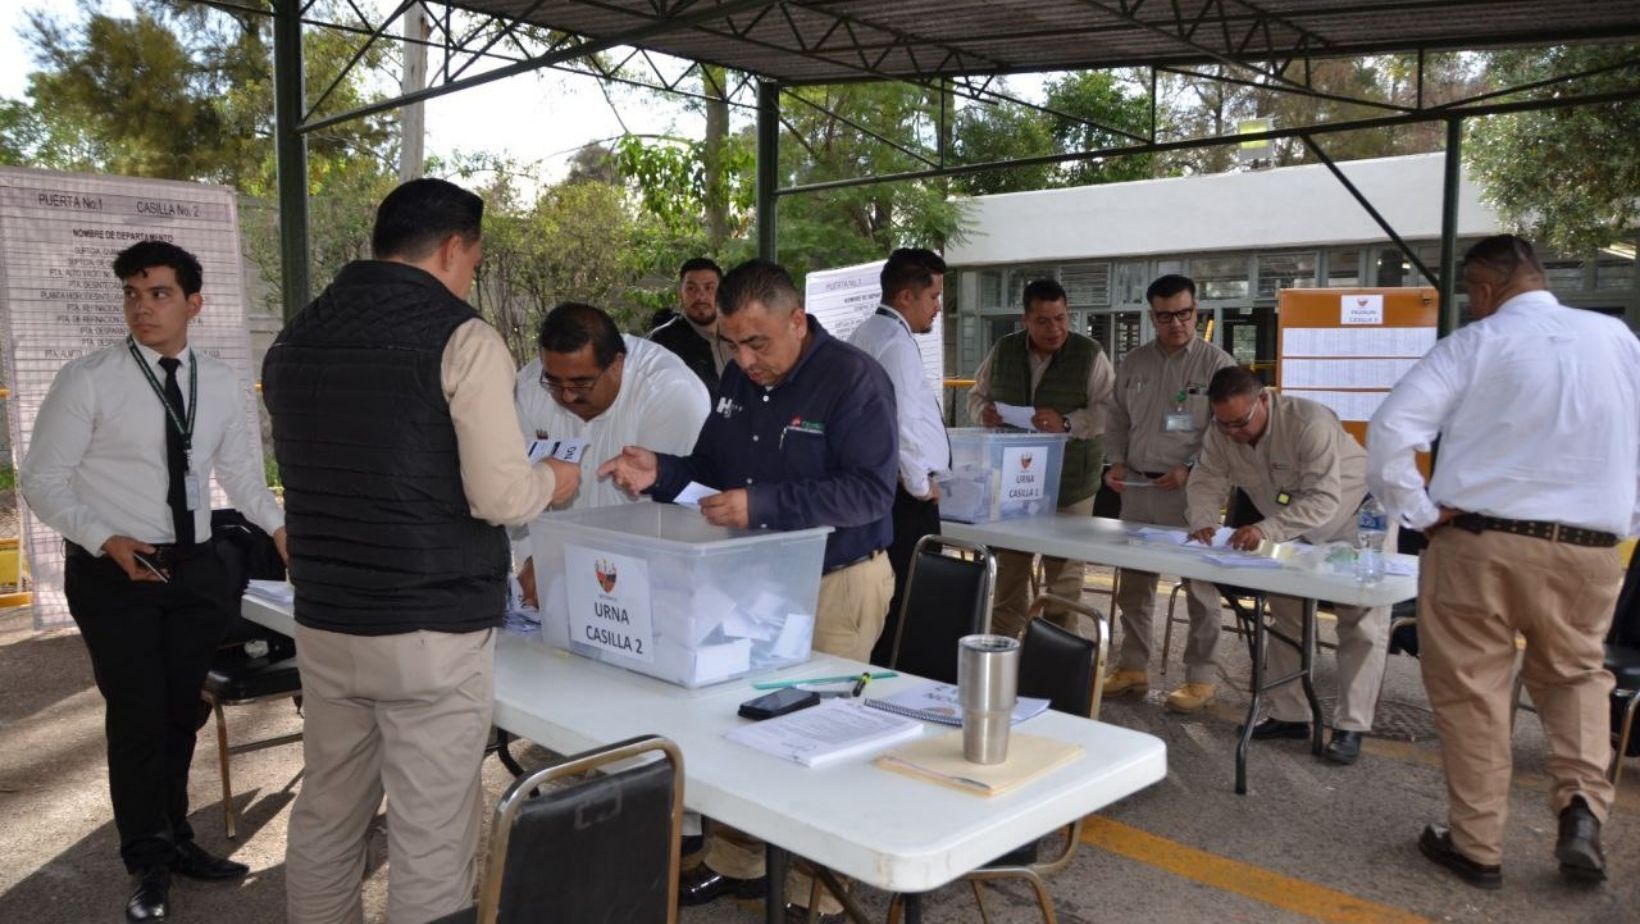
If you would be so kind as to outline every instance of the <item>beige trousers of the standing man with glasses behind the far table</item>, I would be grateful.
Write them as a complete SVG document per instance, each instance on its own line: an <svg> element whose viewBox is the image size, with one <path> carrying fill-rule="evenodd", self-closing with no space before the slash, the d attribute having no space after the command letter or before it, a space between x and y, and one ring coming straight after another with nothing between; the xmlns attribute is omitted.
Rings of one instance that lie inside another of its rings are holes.
<svg viewBox="0 0 1640 924"><path fill-rule="evenodd" d="M1186 527L1184 489L1130 487L1122 492L1122 519L1135 524ZM1122 569L1117 579L1117 611L1122 614L1122 653L1117 668L1150 670L1150 650L1156 640L1156 574ZM1219 648L1219 588L1207 581L1184 583L1184 609L1189 612L1189 635L1184 642L1184 679L1214 683L1217 678L1214 650Z"/></svg>

